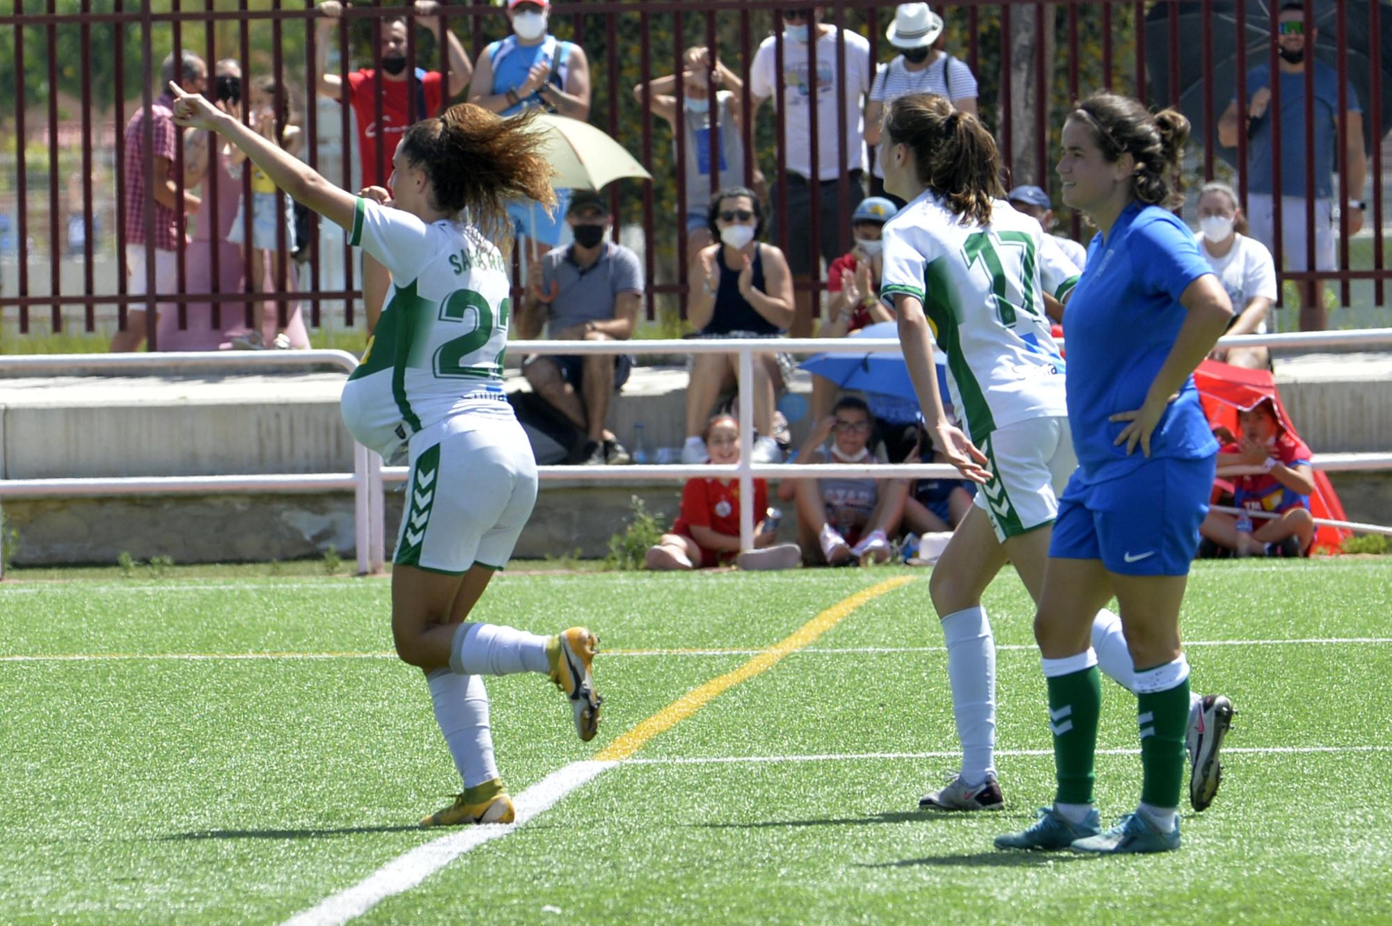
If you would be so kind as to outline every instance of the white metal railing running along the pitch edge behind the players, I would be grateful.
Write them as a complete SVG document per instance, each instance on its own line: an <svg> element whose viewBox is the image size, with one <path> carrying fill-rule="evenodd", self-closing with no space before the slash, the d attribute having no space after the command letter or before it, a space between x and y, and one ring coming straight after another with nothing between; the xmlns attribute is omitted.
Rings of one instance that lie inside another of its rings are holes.
<svg viewBox="0 0 1392 926"><path fill-rule="evenodd" d="M1392 345L1392 330L1320 331L1293 334L1240 335L1218 341L1221 348L1268 346L1318 349L1345 346ZM896 339L870 338L721 338L683 341L512 341L508 349L518 353L546 355L671 355L735 353L739 363L738 409L741 421L753 420L753 393L746 385L753 380L753 355L780 353L885 353L899 350ZM0 382L6 371L21 375L63 374L99 375L139 370L189 373L223 367L292 368L333 364L344 371L358 366L356 357L342 350L277 352L206 352L206 353L131 353L131 355L35 355L0 357ZM739 478L741 545L749 548L754 535L753 480L807 477L809 469L792 464L750 463L753 428L741 428L741 462L731 466L661 464L661 466L541 466L541 480L628 481L639 478L686 480L696 476ZM1392 453L1324 453L1311 464L1317 470L1389 470ZM386 562L386 519L383 487L405 481L406 467L384 467L381 457L355 445L354 473L270 474L270 476L189 476L152 478L88 480L0 480L0 502L7 498L74 498L95 495L173 495L206 492L329 492L354 489L354 537L359 573L377 573ZM874 478L954 478L955 467L944 463L917 464L820 464L817 476ZM1392 528L1335 523L1359 531L1392 534ZM3 577L3 573L0 573Z"/></svg>

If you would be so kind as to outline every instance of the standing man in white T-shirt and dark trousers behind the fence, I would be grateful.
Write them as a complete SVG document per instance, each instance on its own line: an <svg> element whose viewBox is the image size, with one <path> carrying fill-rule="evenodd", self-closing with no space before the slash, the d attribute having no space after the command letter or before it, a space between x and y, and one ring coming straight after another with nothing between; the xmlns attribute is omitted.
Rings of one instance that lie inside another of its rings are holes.
<svg viewBox="0 0 1392 926"><path fill-rule="evenodd" d="M782 67L775 74L775 38L759 46L749 70L749 92L753 111L768 97L777 96L778 81L784 85L784 111L775 114L784 122L784 175L788 188L788 266L798 282L795 313L789 334L795 338L812 336L812 279L821 275L821 261L828 264L841 253L841 211L838 178L845 175L851 186L851 202L864 196L866 167L864 120L862 99L870 89L870 43L864 36L842 29L845 38L846 72L838 76L838 29L823 24L821 7L782 10ZM817 74L807 75L809 43L814 42ZM812 136L812 106L817 106L817 138ZM846 133L838 131L838 110L845 106ZM812 177L812 147L817 146L817 177ZM842 156L842 149L845 154ZM817 241L812 239L812 184L818 184ZM778 196L777 185L774 196Z"/></svg>

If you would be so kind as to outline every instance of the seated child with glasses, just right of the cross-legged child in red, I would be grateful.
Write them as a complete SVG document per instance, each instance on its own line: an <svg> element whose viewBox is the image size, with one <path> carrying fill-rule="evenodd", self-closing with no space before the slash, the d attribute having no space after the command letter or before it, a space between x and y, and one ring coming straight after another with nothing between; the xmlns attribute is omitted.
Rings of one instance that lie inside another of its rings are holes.
<svg viewBox="0 0 1392 926"><path fill-rule="evenodd" d="M856 396L844 396L807 437L798 463L884 463L869 448L873 427L869 406ZM798 545L805 562L864 566L889 559L889 537L903 519L908 482L828 477L799 478L795 485Z"/></svg>

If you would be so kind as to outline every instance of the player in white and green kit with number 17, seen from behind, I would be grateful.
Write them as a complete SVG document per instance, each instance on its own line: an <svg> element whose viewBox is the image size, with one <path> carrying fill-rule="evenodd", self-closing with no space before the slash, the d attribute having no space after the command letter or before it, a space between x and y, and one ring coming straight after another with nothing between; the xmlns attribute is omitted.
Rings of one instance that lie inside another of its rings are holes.
<svg viewBox="0 0 1392 926"><path fill-rule="evenodd" d="M962 769L920 806L1001 809L995 755L995 641L981 594L1006 560L1037 602L1058 492L1077 466L1068 427L1063 359L1044 295L1062 302L1079 271L1033 218L1011 209L1001 164L976 117L930 93L889 104L880 163L885 189L910 200L883 232L881 298L899 318L905 360L938 446L981 484L933 570ZM952 405L942 409L933 346L948 357ZM1093 624L1101 669L1130 687L1121 622Z"/></svg>

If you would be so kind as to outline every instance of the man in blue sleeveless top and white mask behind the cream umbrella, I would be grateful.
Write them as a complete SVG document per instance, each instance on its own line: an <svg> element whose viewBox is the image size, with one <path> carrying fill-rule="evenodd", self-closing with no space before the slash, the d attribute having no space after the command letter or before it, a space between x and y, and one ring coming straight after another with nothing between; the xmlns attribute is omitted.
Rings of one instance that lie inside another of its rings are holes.
<svg viewBox="0 0 1392 926"><path fill-rule="evenodd" d="M493 42L479 56L469 101L501 115L541 107L572 120L590 118L590 63L585 49L551 35L546 0L508 0L512 35ZM508 204L518 238L528 239L528 261L561 243L569 190L555 190L555 213L530 200ZM543 247L544 245L544 247Z"/></svg>

